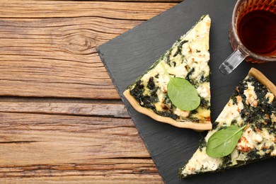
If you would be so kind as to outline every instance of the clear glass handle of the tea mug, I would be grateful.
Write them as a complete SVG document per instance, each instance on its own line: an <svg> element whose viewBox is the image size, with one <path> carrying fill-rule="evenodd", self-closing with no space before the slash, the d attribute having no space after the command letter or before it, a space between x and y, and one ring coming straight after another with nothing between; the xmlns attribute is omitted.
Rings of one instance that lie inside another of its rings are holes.
<svg viewBox="0 0 276 184"><path fill-rule="evenodd" d="M246 55L237 49L219 66L219 71L225 75L230 74L245 58Z"/></svg>

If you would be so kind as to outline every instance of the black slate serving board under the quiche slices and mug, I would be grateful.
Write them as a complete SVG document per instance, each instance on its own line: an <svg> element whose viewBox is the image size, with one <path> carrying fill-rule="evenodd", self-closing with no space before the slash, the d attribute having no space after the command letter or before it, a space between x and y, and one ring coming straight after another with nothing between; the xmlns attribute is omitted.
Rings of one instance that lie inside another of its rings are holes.
<svg viewBox="0 0 276 184"><path fill-rule="evenodd" d="M235 86L248 74L251 67L262 71L276 84L276 62L243 62L228 76L218 70L219 65L232 52L228 35L235 3L234 0L185 0L97 49L165 183L276 183L275 159L224 172L205 173L185 180L178 178L178 168L183 167L185 161L191 158L206 132L198 133L156 122L134 110L122 96L127 86L143 74L204 14L209 14L212 20L209 42L212 122L217 119Z"/></svg>

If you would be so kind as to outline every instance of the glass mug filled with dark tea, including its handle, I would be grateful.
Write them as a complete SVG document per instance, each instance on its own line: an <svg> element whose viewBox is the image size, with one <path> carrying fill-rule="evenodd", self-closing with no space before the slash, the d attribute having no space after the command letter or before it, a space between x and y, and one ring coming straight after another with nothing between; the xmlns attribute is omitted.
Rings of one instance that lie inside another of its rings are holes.
<svg viewBox="0 0 276 184"><path fill-rule="evenodd" d="M238 0L229 33L234 52L220 65L229 74L243 60L276 61L276 0Z"/></svg>

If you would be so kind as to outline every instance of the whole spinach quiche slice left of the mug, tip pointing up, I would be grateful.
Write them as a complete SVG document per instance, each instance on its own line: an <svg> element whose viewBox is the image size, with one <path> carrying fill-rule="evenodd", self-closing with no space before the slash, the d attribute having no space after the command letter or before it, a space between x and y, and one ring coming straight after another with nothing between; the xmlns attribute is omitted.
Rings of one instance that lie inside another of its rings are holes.
<svg viewBox="0 0 276 184"><path fill-rule="evenodd" d="M125 98L140 113L159 122L193 130L211 130L209 85L209 29L211 19L202 16L142 76L128 86ZM200 105L195 110L180 110L168 98L172 77L186 79L197 90Z"/></svg>

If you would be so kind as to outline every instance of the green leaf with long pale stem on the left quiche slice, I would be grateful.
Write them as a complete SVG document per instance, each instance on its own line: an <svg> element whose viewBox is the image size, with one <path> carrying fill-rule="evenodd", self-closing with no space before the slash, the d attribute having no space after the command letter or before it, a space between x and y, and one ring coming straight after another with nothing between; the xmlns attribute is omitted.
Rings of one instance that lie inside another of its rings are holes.
<svg viewBox="0 0 276 184"><path fill-rule="evenodd" d="M164 71L166 71L163 64L161 64ZM200 105L200 97L197 90L189 81L179 77L171 77L167 85L168 98L170 98L173 105L176 105L180 110L194 110Z"/></svg>

